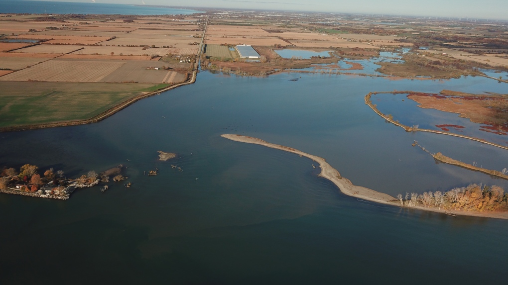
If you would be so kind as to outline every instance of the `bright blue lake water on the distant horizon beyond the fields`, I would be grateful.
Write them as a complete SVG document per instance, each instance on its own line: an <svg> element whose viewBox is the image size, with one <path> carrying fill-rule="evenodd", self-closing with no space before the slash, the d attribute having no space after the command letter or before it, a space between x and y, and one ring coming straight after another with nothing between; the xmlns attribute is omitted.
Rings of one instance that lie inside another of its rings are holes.
<svg viewBox="0 0 508 285"><path fill-rule="evenodd" d="M189 15L200 13L200 11L196 10L142 6L141 1L139 4L0 0L0 13L120 15Z"/></svg>

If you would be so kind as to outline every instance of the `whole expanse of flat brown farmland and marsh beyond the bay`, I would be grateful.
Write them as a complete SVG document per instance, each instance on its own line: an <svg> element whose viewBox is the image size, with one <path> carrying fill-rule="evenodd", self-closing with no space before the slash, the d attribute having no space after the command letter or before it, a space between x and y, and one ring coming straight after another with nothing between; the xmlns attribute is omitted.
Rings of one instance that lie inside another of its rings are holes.
<svg viewBox="0 0 508 285"><path fill-rule="evenodd" d="M193 80L198 64L240 76L485 76L508 82L508 28L488 20L210 10L189 16L12 14L0 21L0 86L6 87L0 121L5 126L93 117L146 90ZM241 58L237 45L252 46L259 57ZM288 50L294 55L279 54ZM302 57L301 52L319 55ZM387 52L401 56L382 60ZM362 59L374 62L375 72L364 68ZM40 95L19 95L37 84L44 86L44 92L36 92ZM96 86L115 86L104 90L121 94L105 99L95 93ZM76 92L101 98L88 100L88 111L78 114L72 107L77 99L71 98ZM58 94L59 110L69 114L50 115L51 104L25 101L47 94Z"/></svg>

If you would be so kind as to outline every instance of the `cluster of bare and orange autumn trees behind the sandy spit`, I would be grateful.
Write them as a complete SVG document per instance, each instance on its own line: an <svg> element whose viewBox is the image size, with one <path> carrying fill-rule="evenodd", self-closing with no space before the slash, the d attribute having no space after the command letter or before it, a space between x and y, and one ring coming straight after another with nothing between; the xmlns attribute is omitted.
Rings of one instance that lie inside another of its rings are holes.
<svg viewBox="0 0 508 285"><path fill-rule="evenodd" d="M463 211L506 211L508 193L499 186L471 184L454 188L448 192L425 192L423 194L406 193L397 195L401 206L420 206Z"/></svg>

